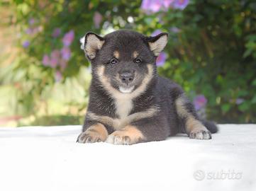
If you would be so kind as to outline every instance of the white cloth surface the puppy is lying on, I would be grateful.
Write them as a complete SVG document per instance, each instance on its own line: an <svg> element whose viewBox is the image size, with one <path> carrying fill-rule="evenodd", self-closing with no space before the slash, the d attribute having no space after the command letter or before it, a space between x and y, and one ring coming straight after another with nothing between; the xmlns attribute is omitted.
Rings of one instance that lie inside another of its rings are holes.
<svg viewBox="0 0 256 191"><path fill-rule="evenodd" d="M256 190L256 125L118 146L81 126L0 128L0 190Z"/></svg>

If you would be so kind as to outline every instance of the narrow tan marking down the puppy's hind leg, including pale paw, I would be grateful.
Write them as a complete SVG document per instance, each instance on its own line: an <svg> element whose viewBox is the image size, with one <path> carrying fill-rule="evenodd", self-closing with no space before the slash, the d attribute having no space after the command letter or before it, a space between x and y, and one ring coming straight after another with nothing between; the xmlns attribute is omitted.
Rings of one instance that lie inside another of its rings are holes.
<svg viewBox="0 0 256 191"><path fill-rule="evenodd" d="M184 107L185 104L186 100L182 96L175 101L179 117L186 119L185 128L189 138L211 139L211 132L199 120L196 120L191 113L187 112L187 109Z"/></svg>

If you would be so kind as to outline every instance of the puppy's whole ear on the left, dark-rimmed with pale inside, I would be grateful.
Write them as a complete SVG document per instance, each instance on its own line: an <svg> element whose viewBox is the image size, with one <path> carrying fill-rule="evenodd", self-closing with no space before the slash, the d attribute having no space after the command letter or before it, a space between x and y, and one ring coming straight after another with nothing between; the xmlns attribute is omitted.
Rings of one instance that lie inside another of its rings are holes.
<svg viewBox="0 0 256 191"><path fill-rule="evenodd" d="M85 55L91 60L96 57L96 52L101 50L105 40L103 37L89 32L80 39L80 42L82 44L81 49L84 50Z"/></svg>

